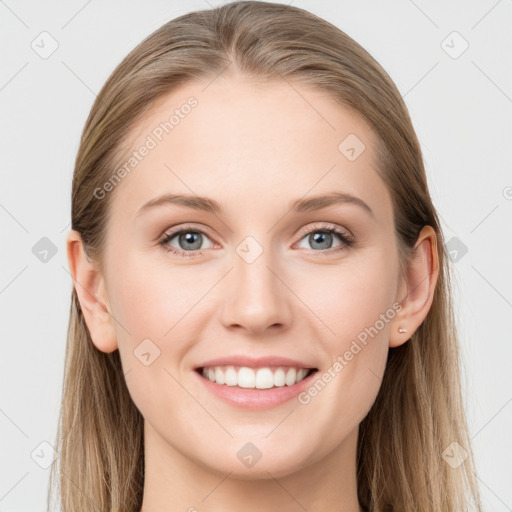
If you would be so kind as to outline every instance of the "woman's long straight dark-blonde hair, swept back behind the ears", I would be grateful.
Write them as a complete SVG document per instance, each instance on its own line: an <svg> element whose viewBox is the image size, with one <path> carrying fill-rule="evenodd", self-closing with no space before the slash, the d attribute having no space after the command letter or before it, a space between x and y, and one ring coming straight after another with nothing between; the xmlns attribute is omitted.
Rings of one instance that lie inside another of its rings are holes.
<svg viewBox="0 0 512 512"><path fill-rule="evenodd" d="M131 128L174 88L226 71L294 79L358 111L378 136L379 173L393 200L402 268L423 226L432 226L438 237L431 309L411 339L390 349L379 394L360 425L361 505L374 512L459 512L471 505L481 510L449 259L420 145L390 77L344 32L302 9L253 1L192 12L156 30L114 70L91 109L73 176L72 229L81 234L87 254L101 262L110 203L109 197L98 200L94 190L116 170L118 148ZM126 387L119 352L103 353L93 345L74 288L56 447L65 512L140 510L143 418ZM458 467L443 456L454 447L467 454Z"/></svg>

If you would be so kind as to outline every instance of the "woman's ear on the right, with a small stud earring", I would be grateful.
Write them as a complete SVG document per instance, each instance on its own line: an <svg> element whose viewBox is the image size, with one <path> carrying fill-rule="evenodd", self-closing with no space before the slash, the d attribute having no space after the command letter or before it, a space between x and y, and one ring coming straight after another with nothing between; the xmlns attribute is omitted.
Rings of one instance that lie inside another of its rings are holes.
<svg viewBox="0 0 512 512"><path fill-rule="evenodd" d="M408 262L406 278L399 286L397 301L402 308L390 322L390 347L405 343L425 320L432 305L438 275L437 236L432 226L424 226ZM406 332L399 332L399 328Z"/></svg>

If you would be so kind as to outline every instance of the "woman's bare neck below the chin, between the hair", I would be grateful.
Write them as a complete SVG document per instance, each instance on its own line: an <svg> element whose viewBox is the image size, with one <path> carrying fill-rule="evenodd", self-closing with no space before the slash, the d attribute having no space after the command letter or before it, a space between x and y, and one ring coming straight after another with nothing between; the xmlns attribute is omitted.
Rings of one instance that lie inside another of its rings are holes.
<svg viewBox="0 0 512 512"><path fill-rule="evenodd" d="M357 499L356 428L323 459L284 475L237 479L191 460L147 423L140 512L363 512Z"/></svg>

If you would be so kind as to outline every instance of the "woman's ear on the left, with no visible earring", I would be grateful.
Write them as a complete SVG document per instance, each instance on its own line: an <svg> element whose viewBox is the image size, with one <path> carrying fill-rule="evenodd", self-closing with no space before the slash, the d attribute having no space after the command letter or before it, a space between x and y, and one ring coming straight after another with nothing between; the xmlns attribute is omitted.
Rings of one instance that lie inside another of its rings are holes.
<svg viewBox="0 0 512 512"><path fill-rule="evenodd" d="M85 253L80 233L73 229L67 237L67 255L73 285L92 341L98 350L113 352L118 344L105 279L97 263Z"/></svg>

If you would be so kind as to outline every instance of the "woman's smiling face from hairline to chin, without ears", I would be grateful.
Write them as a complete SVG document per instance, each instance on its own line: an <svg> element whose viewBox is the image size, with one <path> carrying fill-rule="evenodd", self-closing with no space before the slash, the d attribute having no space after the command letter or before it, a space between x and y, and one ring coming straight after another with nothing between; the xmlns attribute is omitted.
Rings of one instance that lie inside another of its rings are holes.
<svg viewBox="0 0 512 512"><path fill-rule="evenodd" d="M105 290L162 456L278 477L346 448L376 398L399 299L392 202L357 113L305 85L206 85L127 141L137 162L101 199ZM166 194L194 201L144 207Z"/></svg>

